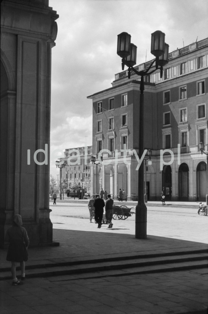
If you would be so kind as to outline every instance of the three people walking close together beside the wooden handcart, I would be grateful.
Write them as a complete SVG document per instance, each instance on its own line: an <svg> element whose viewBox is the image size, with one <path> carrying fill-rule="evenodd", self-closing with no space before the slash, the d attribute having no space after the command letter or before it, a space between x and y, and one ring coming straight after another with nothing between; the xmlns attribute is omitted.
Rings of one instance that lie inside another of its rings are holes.
<svg viewBox="0 0 208 314"><path fill-rule="evenodd" d="M106 192L106 191L105 191ZM90 222L92 222L92 214L95 214L95 222L98 224L97 228L101 228L102 225L102 218L104 213L105 207L105 216L108 222L108 228L112 228L112 218L113 218L113 200L111 198L111 194L107 194L107 198L105 198L105 192L101 189L100 195L96 194L93 195L92 198L88 202L88 208L90 213ZM104 199L106 203L104 202Z"/></svg>

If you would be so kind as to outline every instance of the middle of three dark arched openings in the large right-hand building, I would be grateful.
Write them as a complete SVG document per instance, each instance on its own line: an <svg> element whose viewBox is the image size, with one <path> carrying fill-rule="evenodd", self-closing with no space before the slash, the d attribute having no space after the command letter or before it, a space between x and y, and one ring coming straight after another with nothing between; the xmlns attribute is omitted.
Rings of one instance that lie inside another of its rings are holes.
<svg viewBox="0 0 208 314"><path fill-rule="evenodd" d="M189 200L189 167L183 163L178 171L179 201Z"/></svg>

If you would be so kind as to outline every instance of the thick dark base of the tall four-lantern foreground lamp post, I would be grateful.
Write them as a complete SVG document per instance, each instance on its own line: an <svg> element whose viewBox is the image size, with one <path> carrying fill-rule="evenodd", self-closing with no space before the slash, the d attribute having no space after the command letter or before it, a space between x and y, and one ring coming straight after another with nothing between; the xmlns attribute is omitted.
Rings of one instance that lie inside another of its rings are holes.
<svg viewBox="0 0 208 314"><path fill-rule="evenodd" d="M138 202L136 206L135 238L147 238L147 207L143 202Z"/></svg>

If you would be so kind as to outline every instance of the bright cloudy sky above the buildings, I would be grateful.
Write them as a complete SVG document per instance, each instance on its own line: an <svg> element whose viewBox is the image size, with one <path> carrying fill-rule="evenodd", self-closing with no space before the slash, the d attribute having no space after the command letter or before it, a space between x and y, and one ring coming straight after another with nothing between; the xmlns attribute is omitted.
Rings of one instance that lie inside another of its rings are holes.
<svg viewBox="0 0 208 314"><path fill-rule="evenodd" d="M131 34L137 65L153 59L151 33L161 30L169 52L208 36L207 0L49 0L59 14L52 49L51 163L57 150L92 144L92 100L122 71L117 35ZM52 155L53 153L53 155Z"/></svg>

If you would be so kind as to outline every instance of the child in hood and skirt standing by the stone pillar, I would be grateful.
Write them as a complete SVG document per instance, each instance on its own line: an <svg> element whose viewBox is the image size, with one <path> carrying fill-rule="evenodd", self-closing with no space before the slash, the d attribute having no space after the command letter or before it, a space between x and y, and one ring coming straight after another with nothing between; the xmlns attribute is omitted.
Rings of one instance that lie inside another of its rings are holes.
<svg viewBox="0 0 208 314"><path fill-rule="evenodd" d="M27 231L22 226L22 217L18 214L14 215L13 226L7 230L6 238L10 244L7 252L7 261L11 261L12 285L22 284L16 277L16 263L20 263L21 280L25 280L25 261L28 260L29 237Z"/></svg>

